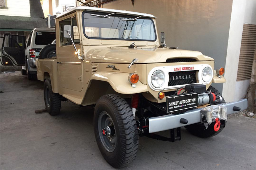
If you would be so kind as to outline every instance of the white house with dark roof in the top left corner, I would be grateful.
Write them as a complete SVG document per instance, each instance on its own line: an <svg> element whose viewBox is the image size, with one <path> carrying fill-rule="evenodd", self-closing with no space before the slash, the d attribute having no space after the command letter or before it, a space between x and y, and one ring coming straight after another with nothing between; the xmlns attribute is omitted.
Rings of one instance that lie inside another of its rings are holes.
<svg viewBox="0 0 256 170"><path fill-rule="evenodd" d="M1 37L28 36L37 27L46 27L40 0L1 0Z"/></svg>

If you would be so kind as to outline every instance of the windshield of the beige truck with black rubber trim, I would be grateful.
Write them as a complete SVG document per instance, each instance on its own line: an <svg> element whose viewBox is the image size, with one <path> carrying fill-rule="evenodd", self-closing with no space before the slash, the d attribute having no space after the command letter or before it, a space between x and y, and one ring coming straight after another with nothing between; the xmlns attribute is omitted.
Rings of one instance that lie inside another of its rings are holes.
<svg viewBox="0 0 256 170"><path fill-rule="evenodd" d="M155 41L156 31L150 18L84 12L84 34L92 39Z"/></svg>

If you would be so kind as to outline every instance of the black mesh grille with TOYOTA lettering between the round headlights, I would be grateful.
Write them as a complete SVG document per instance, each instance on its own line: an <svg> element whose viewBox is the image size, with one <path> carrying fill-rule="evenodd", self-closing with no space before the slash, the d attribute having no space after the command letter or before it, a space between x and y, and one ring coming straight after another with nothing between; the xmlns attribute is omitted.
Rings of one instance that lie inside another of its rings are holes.
<svg viewBox="0 0 256 170"><path fill-rule="evenodd" d="M168 86L196 83L196 70L169 72Z"/></svg>

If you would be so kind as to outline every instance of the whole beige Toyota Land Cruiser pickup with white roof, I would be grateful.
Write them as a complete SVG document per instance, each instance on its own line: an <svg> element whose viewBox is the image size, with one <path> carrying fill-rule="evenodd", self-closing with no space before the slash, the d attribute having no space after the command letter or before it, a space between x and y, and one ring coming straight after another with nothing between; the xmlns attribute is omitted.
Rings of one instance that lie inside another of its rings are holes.
<svg viewBox="0 0 256 170"><path fill-rule="evenodd" d="M36 61L46 109L57 115L64 100L95 106L97 145L113 167L135 159L139 136L174 142L185 126L211 137L247 108L247 99L226 103L211 86L226 81L213 58L167 47L163 32L160 45L153 15L76 7L55 23L56 46ZM164 130L170 137L155 134Z"/></svg>

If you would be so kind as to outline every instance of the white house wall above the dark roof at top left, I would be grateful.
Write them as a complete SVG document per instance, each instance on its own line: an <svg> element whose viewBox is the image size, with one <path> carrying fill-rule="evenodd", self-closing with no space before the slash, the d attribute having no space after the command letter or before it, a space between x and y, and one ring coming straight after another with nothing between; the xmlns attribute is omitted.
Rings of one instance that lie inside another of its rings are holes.
<svg viewBox="0 0 256 170"><path fill-rule="evenodd" d="M1 15L30 17L29 0L7 0L8 9L1 9Z"/></svg>

